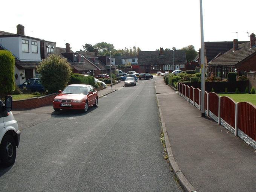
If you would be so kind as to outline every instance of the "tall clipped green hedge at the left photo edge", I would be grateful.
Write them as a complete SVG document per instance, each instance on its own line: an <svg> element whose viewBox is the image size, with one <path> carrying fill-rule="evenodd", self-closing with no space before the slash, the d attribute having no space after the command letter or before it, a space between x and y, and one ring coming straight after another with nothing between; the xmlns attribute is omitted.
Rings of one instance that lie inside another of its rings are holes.
<svg viewBox="0 0 256 192"><path fill-rule="evenodd" d="M12 94L15 90L14 81L15 58L8 50L0 50L0 98Z"/></svg>

